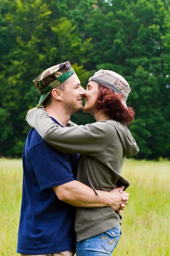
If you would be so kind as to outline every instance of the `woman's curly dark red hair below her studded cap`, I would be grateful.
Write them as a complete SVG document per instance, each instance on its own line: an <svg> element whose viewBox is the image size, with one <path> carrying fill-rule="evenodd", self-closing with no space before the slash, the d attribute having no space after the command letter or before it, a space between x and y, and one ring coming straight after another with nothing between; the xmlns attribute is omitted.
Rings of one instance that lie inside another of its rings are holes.
<svg viewBox="0 0 170 256"><path fill-rule="evenodd" d="M133 108L125 108L121 102L122 97L123 95L121 93L114 93L110 88L99 84L99 92L95 108L97 110L102 109L106 115L110 116L110 118L119 122L123 120L129 125L134 119L135 112Z"/></svg>

